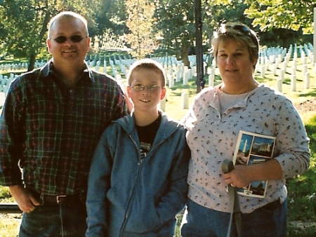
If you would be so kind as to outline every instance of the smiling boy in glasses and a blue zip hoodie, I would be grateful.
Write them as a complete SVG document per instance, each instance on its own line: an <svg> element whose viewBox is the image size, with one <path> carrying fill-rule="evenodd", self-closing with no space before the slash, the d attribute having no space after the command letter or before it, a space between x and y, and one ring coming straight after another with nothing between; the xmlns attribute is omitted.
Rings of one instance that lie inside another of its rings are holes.
<svg viewBox="0 0 316 237"><path fill-rule="evenodd" d="M162 65L138 60L127 79L133 111L114 121L96 148L86 236L171 237L187 200L185 130L158 109L166 96Z"/></svg>

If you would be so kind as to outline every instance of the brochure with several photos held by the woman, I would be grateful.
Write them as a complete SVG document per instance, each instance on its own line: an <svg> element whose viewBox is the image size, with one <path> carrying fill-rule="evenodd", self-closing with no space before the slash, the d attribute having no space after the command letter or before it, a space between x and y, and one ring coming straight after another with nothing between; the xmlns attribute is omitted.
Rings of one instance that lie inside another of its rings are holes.
<svg viewBox="0 0 316 237"><path fill-rule="evenodd" d="M265 162L272 158L275 148L275 137L239 131L235 154L234 165L252 165ZM254 181L247 187L238 188L238 194L264 198L268 181Z"/></svg>

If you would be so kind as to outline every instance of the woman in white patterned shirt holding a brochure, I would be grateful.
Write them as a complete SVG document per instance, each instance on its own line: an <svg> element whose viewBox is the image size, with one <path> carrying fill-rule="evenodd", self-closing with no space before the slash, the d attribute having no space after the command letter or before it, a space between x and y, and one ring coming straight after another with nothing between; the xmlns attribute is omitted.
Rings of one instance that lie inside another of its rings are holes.
<svg viewBox="0 0 316 237"><path fill-rule="evenodd" d="M238 195L241 236L285 236L285 180L310 165L303 123L287 97L254 79L259 57L254 31L237 23L221 25L212 46L222 83L199 93L183 118L192 158L182 236L227 236L232 206L227 186L242 188L258 180L268 180L264 198ZM232 161L241 130L275 137L272 158L235 165L224 174L221 165ZM231 236L237 236L234 225Z"/></svg>

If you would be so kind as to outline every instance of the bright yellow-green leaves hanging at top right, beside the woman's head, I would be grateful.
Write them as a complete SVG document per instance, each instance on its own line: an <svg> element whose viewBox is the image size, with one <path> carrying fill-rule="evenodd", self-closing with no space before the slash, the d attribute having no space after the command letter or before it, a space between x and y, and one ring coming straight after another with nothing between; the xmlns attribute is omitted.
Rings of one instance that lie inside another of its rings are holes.
<svg viewBox="0 0 316 237"><path fill-rule="evenodd" d="M316 1L312 0L256 0L250 4L245 13L254 19L253 25L260 26L262 31L275 28L303 30L304 34L312 34L313 8Z"/></svg>

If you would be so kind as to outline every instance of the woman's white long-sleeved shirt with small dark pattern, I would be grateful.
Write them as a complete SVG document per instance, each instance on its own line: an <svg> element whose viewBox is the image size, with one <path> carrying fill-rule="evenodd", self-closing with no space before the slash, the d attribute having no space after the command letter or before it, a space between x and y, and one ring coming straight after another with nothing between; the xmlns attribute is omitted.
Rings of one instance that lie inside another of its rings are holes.
<svg viewBox="0 0 316 237"><path fill-rule="evenodd" d="M276 137L273 157L282 167L282 180L269 180L265 198L239 195L244 213L280 198L287 198L285 179L303 173L310 165L308 137L292 102L261 85L220 113L219 86L206 88L183 118L190 160L188 197L206 208L230 212L221 163L234 156L239 130ZM223 115L220 115L223 114Z"/></svg>

